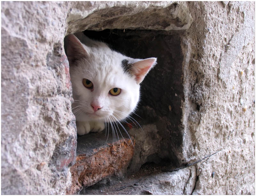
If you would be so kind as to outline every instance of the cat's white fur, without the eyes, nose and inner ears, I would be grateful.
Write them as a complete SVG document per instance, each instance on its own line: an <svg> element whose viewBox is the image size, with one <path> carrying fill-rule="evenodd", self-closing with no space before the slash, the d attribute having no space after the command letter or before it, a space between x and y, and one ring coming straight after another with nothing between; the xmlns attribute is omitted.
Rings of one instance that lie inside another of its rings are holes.
<svg viewBox="0 0 256 196"><path fill-rule="evenodd" d="M112 51L105 43L92 41L82 34L76 34L76 37L86 43L83 47L88 54L88 57L76 60L76 65L70 65L74 98L72 111L76 116L77 133L84 135L102 131L105 123L121 121L135 110L140 97L140 84L135 76L124 73L121 64L124 59L129 63L141 59L126 57ZM156 59L152 65L155 63ZM84 87L84 78L93 83L93 89ZM120 88L121 93L110 95L112 88ZM101 108L94 112L92 103Z"/></svg>

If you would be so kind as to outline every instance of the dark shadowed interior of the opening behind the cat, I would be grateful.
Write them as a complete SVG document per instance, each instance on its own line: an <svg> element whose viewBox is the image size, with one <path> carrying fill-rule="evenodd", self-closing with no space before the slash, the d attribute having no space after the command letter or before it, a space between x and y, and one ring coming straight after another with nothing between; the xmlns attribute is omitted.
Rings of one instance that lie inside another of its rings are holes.
<svg viewBox="0 0 256 196"><path fill-rule="evenodd" d="M141 100L136 110L136 114L141 118L135 114L132 118L140 126L155 124L162 138L158 153L150 155L147 162L163 163L164 161L168 165L180 166L177 154L181 151L182 144L180 119L181 100L184 99L180 34L166 31L105 29L85 30L84 35L105 42L111 49L132 58L157 58L157 65L141 83ZM125 123L123 124L127 128ZM129 134L134 136L133 132ZM147 139L150 136L143 137ZM77 145L79 146L79 142ZM131 168L132 171L138 170L134 166Z"/></svg>

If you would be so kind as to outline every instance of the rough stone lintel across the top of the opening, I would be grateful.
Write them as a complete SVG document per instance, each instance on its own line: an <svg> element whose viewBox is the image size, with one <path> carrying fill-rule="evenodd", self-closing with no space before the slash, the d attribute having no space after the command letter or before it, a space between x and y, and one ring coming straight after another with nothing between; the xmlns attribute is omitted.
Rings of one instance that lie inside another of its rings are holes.
<svg viewBox="0 0 256 196"><path fill-rule="evenodd" d="M77 3L68 14L68 34L85 29L188 29L193 19L186 3L86 2ZM83 24L83 25L81 25Z"/></svg>

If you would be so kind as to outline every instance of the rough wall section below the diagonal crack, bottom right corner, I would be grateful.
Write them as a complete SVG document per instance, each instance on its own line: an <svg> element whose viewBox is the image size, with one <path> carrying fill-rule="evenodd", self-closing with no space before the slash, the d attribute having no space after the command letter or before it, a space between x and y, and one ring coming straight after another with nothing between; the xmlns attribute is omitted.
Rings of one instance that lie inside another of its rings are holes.
<svg viewBox="0 0 256 196"><path fill-rule="evenodd" d="M254 156L247 153L241 155L239 151L248 150L242 148L238 151L234 146L233 149L222 150L195 165L197 181L193 194L255 194L254 165L248 164Z"/></svg>

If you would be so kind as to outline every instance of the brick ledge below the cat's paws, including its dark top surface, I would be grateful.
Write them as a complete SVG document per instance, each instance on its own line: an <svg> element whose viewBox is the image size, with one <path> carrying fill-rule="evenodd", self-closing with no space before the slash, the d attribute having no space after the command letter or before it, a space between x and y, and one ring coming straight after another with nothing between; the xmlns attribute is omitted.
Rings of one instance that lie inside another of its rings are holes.
<svg viewBox="0 0 256 196"><path fill-rule="evenodd" d="M105 133L78 138L76 163L70 168L72 185L68 187L67 194L77 194L102 178L118 176L127 169L134 154L134 138L110 140L106 141Z"/></svg>

